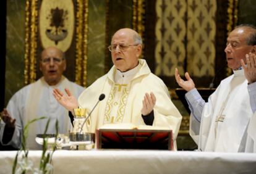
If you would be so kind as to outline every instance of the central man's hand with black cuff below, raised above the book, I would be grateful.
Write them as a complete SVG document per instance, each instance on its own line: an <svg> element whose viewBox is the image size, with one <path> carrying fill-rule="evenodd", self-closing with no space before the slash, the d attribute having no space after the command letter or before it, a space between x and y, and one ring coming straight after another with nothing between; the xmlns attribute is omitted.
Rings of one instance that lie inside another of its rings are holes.
<svg viewBox="0 0 256 174"><path fill-rule="evenodd" d="M150 114L150 112L154 109L154 106L156 104L155 95L153 93L150 93L150 94L146 93L142 103L143 103L142 115Z"/></svg>

